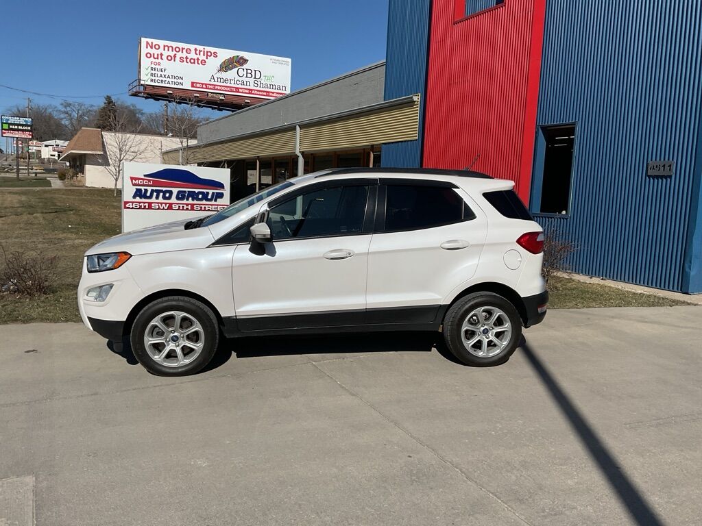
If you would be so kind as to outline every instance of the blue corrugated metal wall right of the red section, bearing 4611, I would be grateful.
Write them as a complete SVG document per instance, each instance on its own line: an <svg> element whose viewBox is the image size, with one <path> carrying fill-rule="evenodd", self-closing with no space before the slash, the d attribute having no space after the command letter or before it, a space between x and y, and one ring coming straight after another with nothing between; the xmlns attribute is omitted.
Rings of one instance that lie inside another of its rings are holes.
<svg viewBox="0 0 702 526"><path fill-rule="evenodd" d="M548 0L537 125L577 133L571 215L538 221L576 243L574 271L702 292L684 264L702 236L700 27L700 2ZM654 160L675 161L675 175L647 177Z"/></svg>

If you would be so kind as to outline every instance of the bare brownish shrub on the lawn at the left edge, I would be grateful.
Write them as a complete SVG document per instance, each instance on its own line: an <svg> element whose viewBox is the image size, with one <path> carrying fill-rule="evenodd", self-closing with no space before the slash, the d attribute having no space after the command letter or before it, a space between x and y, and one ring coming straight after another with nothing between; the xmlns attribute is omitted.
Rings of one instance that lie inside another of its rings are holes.
<svg viewBox="0 0 702 526"><path fill-rule="evenodd" d="M0 245L4 264L0 268L0 288L21 296L48 294L58 274L58 257L41 250L6 252Z"/></svg>

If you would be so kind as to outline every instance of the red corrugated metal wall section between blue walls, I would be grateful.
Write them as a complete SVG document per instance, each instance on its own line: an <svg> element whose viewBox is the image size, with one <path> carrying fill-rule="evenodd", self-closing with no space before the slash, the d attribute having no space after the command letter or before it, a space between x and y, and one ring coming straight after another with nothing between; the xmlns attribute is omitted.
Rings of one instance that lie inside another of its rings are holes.
<svg viewBox="0 0 702 526"><path fill-rule="evenodd" d="M423 166L516 182L529 201L545 0L506 0L468 18L432 2Z"/></svg>

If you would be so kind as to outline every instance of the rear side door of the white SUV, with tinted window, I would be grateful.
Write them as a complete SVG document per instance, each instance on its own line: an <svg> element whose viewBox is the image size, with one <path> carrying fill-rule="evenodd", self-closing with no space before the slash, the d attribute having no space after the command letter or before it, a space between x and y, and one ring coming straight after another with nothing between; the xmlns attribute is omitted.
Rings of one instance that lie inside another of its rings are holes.
<svg viewBox="0 0 702 526"><path fill-rule="evenodd" d="M486 232L484 213L454 184L380 180L369 322L433 321L442 299L475 274Z"/></svg>

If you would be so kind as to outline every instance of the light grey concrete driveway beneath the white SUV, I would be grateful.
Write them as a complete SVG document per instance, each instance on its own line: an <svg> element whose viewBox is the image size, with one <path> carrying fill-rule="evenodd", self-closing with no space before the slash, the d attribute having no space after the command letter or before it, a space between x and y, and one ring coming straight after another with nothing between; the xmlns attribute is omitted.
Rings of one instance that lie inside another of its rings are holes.
<svg viewBox="0 0 702 526"><path fill-rule="evenodd" d="M697 525L701 322L551 311L488 369L424 335L234 340L179 379L0 325L0 524Z"/></svg>

